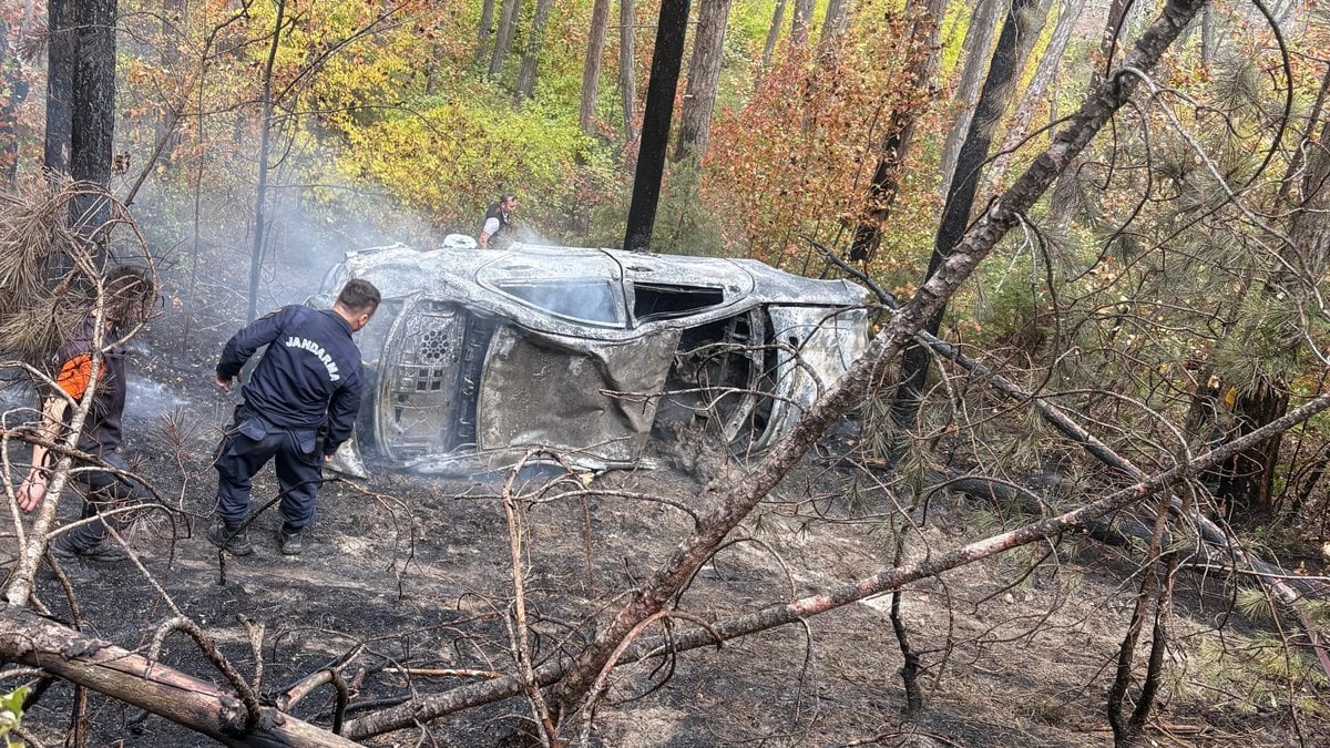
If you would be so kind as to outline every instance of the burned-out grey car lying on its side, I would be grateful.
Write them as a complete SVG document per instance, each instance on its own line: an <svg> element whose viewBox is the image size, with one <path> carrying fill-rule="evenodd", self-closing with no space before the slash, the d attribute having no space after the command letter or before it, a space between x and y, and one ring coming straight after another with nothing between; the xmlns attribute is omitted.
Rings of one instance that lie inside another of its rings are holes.
<svg viewBox="0 0 1330 748"><path fill-rule="evenodd" d="M383 303L360 331L364 458L466 475L528 457L579 470L638 465L658 419L704 419L735 453L767 449L867 346L866 291L750 260L513 245L467 237L348 253Z"/></svg>

